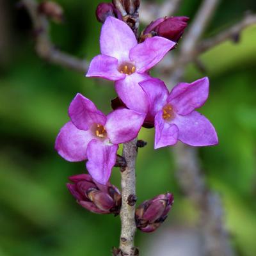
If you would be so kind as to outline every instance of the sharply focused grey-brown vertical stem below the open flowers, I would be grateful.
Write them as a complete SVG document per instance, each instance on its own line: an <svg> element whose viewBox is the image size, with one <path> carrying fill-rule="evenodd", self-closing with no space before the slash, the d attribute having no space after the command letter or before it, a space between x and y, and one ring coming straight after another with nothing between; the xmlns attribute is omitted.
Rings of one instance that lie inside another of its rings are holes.
<svg viewBox="0 0 256 256"><path fill-rule="evenodd" d="M121 172L122 208L120 218L122 223L120 236L120 250L124 255L135 255L134 235L136 232L135 203L136 203L136 175L135 164L137 157L137 139L124 144L123 157L127 167ZM126 253L126 254L125 254Z"/></svg>

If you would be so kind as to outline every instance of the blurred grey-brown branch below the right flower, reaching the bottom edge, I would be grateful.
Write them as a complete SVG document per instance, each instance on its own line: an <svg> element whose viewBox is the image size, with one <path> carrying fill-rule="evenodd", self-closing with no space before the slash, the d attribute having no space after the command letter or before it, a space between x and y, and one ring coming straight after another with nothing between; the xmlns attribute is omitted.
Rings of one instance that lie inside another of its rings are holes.
<svg viewBox="0 0 256 256"><path fill-rule="evenodd" d="M223 225L220 197L207 189L204 175L200 171L197 149L180 143L174 148L174 153L180 187L200 211L199 228L204 255L234 256Z"/></svg>

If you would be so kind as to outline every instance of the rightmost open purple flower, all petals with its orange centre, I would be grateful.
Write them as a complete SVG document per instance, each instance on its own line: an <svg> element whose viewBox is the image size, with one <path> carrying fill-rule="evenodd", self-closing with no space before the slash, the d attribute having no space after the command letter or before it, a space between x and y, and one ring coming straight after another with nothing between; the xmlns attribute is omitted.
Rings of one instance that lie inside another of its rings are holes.
<svg viewBox="0 0 256 256"><path fill-rule="evenodd" d="M211 122L196 108L204 105L209 94L209 79L179 83L171 93L163 81L148 79L140 83L148 95L150 107L146 122L154 122L155 148L175 145L177 140L191 146L218 144L218 137Z"/></svg>

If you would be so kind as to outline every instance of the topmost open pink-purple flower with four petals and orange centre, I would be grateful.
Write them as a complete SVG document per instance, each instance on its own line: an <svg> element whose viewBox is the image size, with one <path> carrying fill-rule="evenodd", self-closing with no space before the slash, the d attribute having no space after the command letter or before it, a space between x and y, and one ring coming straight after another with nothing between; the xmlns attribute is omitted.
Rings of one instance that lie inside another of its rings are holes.
<svg viewBox="0 0 256 256"><path fill-rule="evenodd" d="M108 17L100 35L102 54L93 58L86 76L115 81L116 92L127 108L147 113L147 96L138 83L150 78L147 70L161 61L174 45L159 36L138 44L125 22Z"/></svg>

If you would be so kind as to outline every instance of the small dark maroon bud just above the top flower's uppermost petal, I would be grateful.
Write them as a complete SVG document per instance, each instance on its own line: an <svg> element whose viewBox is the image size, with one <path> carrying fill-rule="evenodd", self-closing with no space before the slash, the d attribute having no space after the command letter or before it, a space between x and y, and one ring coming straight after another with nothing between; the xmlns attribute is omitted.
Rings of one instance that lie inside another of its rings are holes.
<svg viewBox="0 0 256 256"><path fill-rule="evenodd" d="M116 17L117 19L122 20L121 13L113 6L113 4L100 3L96 9L97 20L104 23L109 16Z"/></svg>

